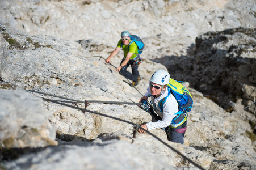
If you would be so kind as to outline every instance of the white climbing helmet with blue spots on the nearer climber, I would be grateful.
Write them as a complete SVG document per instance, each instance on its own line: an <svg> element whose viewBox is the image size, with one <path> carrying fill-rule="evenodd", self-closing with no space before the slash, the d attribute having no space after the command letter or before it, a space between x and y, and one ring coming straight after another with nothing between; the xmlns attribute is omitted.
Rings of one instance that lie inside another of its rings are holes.
<svg viewBox="0 0 256 170"><path fill-rule="evenodd" d="M169 80L170 80L170 74L165 70L155 71L155 73L150 78L150 82L156 83L159 85L168 84Z"/></svg>

